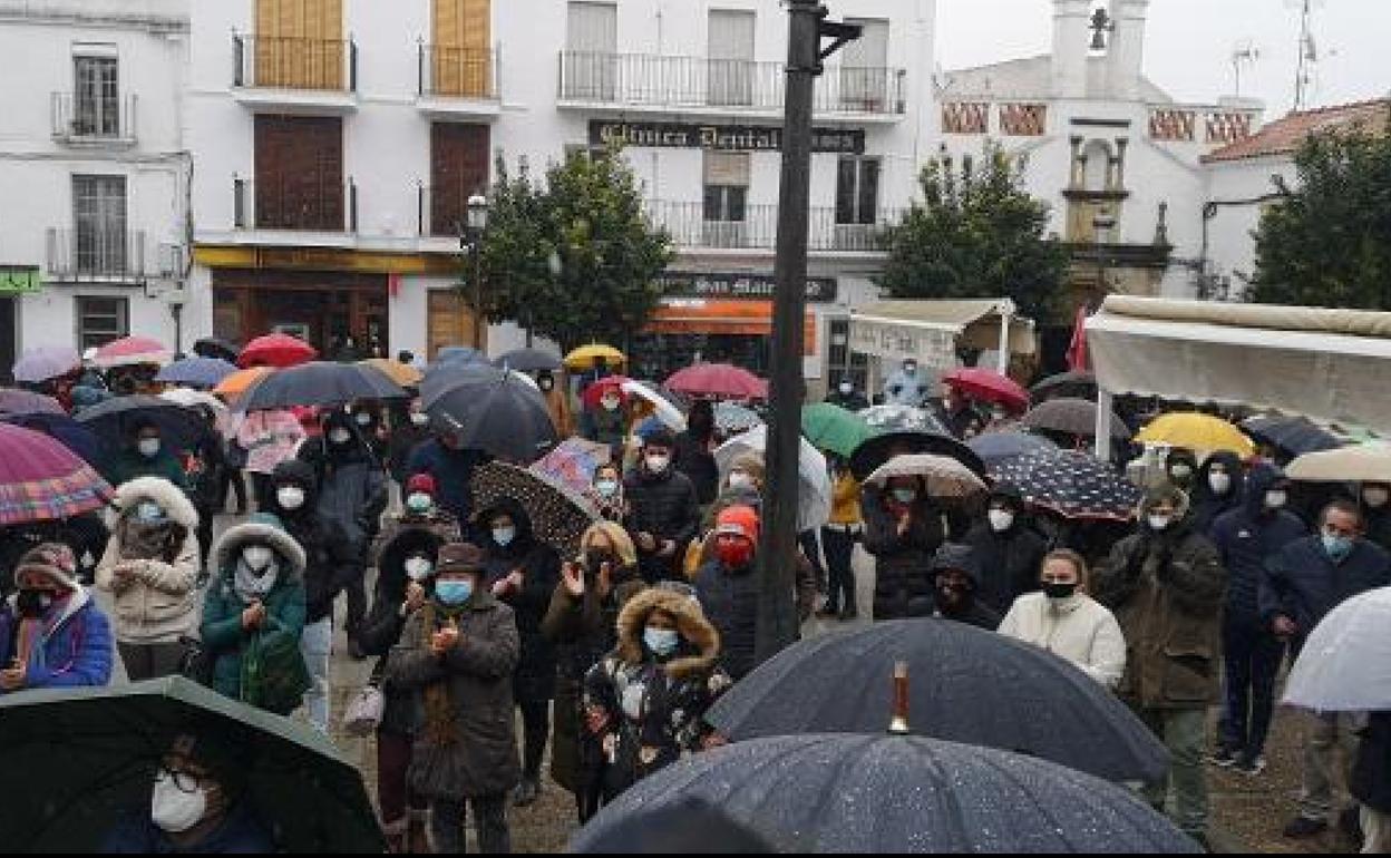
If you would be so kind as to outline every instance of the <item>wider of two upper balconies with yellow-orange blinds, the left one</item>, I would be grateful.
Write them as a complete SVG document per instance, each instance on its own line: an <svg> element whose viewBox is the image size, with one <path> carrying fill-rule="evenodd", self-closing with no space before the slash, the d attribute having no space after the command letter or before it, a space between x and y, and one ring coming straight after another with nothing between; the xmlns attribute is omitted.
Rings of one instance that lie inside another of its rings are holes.
<svg viewBox="0 0 1391 858"><path fill-rule="evenodd" d="M234 33L232 89L238 102L262 113L352 113L357 110L357 43Z"/></svg>

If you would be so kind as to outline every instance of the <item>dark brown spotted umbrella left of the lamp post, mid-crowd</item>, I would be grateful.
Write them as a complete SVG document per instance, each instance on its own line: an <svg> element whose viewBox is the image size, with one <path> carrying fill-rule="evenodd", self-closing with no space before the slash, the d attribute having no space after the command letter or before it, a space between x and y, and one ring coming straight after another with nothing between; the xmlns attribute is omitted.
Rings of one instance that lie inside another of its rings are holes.
<svg viewBox="0 0 1391 858"><path fill-rule="evenodd" d="M580 537L598 521L598 510L583 495L526 467L488 462L473 471L473 509L484 512L499 501L516 501L531 519L536 538L572 558Z"/></svg>

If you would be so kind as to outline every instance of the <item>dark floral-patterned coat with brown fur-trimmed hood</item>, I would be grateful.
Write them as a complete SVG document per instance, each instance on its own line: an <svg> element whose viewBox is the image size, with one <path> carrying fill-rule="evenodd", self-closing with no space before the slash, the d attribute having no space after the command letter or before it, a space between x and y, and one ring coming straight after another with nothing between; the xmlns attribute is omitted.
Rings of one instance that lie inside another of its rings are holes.
<svg viewBox="0 0 1391 858"><path fill-rule="evenodd" d="M654 610L676 617L680 645L668 659L643 641ZM690 597L650 588L623 605L618 647L584 677L584 709L608 716L593 734L612 759L598 773L605 801L700 748L711 733L705 712L733 684L716 665L719 645L719 633Z"/></svg>

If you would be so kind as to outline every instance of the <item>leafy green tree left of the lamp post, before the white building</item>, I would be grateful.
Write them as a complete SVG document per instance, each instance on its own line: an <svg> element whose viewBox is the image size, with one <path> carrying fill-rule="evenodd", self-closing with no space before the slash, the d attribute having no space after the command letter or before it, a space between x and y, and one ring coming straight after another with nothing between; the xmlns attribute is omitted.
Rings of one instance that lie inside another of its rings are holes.
<svg viewBox="0 0 1391 858"><path fill-rule="evenodd" d="M484 313L515 318L565 349L622 342L661 299L670 236L643 214L643 196L616 149L573 154L533 184L523 163L498 163L483 241Z"/></svg>

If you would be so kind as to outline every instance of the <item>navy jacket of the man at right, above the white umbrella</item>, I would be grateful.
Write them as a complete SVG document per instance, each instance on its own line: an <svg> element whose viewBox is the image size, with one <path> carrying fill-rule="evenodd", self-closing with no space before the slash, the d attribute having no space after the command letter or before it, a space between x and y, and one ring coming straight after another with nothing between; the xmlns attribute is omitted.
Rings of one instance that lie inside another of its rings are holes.
<svg viewBox="0 0 1391 858"><path fill-rule="evenodd" d="M1391 584L1391 556L1367 540L1353 542L1352 553L1334 563L1323 538L1289 542L1266 560L1260 577L1260 622L1277 616L1295 622L1295 652L1326 613L1359 592Z"/></svg>

